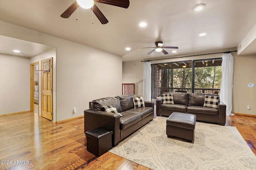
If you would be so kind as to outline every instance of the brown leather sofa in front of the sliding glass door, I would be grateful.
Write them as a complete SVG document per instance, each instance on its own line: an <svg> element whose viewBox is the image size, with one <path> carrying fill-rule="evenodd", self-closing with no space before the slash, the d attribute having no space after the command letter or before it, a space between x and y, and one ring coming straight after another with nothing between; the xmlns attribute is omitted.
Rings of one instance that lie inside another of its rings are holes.
<svg viewBox="0 0 256 170"><path fill-rule="evenodd" d="M218 108L204 107L205 95L218 96L218 94L167 92L173 94L174 104L163 104L163 99L156 100L156 115L170 116L173 112L191 113L196 120L226 124L226 105L218 103Z"/></svg>

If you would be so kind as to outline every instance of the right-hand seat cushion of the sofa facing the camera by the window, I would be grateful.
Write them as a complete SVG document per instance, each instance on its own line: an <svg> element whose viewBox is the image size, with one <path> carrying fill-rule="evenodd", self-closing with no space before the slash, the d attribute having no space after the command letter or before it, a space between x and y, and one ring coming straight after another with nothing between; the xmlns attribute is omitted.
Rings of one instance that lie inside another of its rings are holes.
<svg viewBox="0 0 256 170"><path fill-rule="evenodd" d="M218 115L218 109L212 107L203 107L203 106L188 106L187 107L188 113L202 113L206 115Z"/></svg>

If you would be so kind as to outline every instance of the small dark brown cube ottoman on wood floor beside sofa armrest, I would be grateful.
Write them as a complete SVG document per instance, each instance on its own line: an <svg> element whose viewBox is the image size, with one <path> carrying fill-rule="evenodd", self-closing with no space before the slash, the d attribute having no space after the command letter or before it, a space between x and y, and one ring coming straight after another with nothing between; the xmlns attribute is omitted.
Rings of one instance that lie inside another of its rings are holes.
<svg viewBox="0 0 256 170"><path fill-rule="evenodd" d="M102 127L86 131L87 150L96 156L100 156L112 149L113 131Z"/></svg>

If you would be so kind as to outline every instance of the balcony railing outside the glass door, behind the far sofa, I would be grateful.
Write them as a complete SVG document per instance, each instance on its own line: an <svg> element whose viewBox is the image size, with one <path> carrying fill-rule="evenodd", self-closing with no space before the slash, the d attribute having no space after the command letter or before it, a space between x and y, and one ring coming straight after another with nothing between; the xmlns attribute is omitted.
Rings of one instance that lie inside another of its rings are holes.
<svg viewBox="0 0 256 170"><path fill-rule="evenodd" d="M158 94L159 96L162 96L164 92L176 92L176 91L186 91L188 93L192 93L192 88L166 88L166 87L160 87ZM194 93L208 93L213 94L215 91L218 91L220 94L219 88L195 88Z"/></svg>

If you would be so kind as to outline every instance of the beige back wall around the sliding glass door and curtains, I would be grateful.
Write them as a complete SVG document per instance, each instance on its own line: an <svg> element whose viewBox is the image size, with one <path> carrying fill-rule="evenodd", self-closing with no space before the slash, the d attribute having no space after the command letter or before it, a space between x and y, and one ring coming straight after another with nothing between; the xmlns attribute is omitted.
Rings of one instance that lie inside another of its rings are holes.
<svg viewBox="0 0 256 170"><path fill-rule="evenodd" d="M163 59L151 61L151 64L220 58L222 55L223 53L218 53L186 58ZM232 112L256 115L256 87L248 87L249 83L256 84L256 55L238 57L236 52L232 52L232 55L234 57ZM138 67L134 67L134 64ZM138 80L143 84L143 63L140 61L124 62L123 83L136 83ZM143 85L141 85L141 88L139 87L139 90L143 91ZM250 105L250 110L247 109L247 105Z"/></svg>

